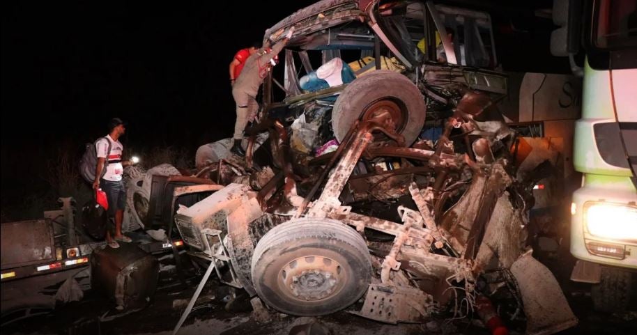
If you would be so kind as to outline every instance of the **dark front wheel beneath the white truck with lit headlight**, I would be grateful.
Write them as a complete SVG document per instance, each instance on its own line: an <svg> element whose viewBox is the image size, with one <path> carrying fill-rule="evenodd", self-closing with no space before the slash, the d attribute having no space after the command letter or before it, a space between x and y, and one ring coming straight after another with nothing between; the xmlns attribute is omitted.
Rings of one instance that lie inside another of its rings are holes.
<svg viewBox="0 0 637 335"><path fill-rule="evenodd" d="M601 267L601 281L590 290L596 311L622 312L630 302L631 272L613 267Z"/></svg>

